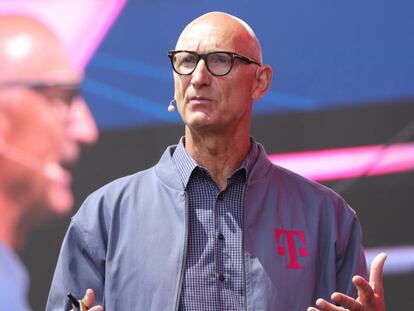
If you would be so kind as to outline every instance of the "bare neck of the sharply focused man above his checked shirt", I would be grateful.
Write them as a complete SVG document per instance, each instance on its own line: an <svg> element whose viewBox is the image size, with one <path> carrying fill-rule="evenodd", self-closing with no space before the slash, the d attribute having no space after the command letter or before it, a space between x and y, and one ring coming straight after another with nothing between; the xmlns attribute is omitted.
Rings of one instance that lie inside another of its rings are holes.
<svg viewBox="0 0 414 311"><path fill-rule="evenodd" d="M209 171L220 190L227 187L227 179L241 166L249 148L248 133L200 135L186 128L185 149L198 165Z"/></svg>

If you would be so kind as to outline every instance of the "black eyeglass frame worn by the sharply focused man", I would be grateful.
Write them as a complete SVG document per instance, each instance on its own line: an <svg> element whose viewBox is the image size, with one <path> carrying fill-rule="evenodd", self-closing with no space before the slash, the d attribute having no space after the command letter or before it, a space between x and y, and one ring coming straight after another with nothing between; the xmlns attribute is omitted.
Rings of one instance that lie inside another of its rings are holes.
<svg viewBox="0 0 414 311"><path fill-rule="evenodd" d="M190 53L190 54L192 54L192 55L197 56L197 61L196 61L196 64L195 64L195 66L194 66L193 70L191 70L189 73L180 73L180 72L178 72L178 71L175 69L175 67L174 67L174 56L175 56L177 53L181 53L181 52L186 52L186 53ZM219 74L219 75L218 75L218 74L215 74L215 73L213 73L213 72L210 70L210 68L208 67L207 57L208 57L209 55L211 55L211 54L216 54L216 53L223 53L223 54L227 54L227 55L229 55L229 56L230 56L230 58L231 58L231 65L230 65L230 67L229 67L229 70L228 70L226 73L224 73L224 74ZM171 61L171 66L173 67L173 70L174 70L177 74L182 75L182 76L188 76L188 75L191 75L191 74L194 72L194 70L197 68L197 65L198 65L198 63L199 63L200 59L204 60L204 63L206 64L206 67L207 67L208 72L209 72L209 73L211 73L213 76L216 76L216 77L222 77L222 76L228 75L228 74L230 73L230 71L233 69L233 66L234 66L234 60L235 60L235 59L240 59L242 62L244 62L245 64L248 64L248 65L250 65L250 64L255 64L255 65L258 65L259 67L260 67L260 66L262 66L259 62L255 61L255 60L253 60L253 59L251 59L251 58L249 58L249 57L247 57L247 56L243 56L243 55L240 55L240 54L238 54L238 53L229 52L229 51L214 51L214 52L209 52L209 53L200 54L200 53L197 53L197 52L194 52L194 51L188 51L188 50L171 50L171 51L168 51L168 57L170 58L170 61Z"/></svg>

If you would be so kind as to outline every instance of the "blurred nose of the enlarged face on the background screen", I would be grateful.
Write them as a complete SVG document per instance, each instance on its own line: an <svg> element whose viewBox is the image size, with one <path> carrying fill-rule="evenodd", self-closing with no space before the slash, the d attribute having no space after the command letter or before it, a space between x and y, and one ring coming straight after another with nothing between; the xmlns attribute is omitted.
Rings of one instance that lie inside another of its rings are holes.
<svg viewBox="0 0 414 311"><path fill-rule="evenodd" d="M83 98L71 104L67 123L67 135L79 144L90 145L98 140L98 128Z"/></svg>

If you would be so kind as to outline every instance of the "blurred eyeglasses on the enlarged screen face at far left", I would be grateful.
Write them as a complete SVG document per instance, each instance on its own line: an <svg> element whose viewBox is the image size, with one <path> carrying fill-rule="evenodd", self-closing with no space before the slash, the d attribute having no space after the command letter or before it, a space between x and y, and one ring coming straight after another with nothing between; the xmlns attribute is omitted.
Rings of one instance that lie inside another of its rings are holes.
<svg viewBox="0 0 414 311"><path fill-rule="evenodd" d="M81 95L81 83L49 83L35 81L10 81L0 83L0 89L9 87L28 88L38 92L48 100L61 100L68 106L76 97Z"/></svg>

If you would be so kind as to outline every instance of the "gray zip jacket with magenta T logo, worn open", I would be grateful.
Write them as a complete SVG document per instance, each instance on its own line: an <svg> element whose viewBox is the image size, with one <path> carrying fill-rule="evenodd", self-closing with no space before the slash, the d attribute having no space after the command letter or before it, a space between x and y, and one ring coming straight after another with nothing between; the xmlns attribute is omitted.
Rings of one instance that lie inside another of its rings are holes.
<svg viewBox="0 0 414 311"><path fill-rule="evenodd" d="M303 311L366 276L355 212L333 191L260 155L243 206L247 310ZM152 168L92 193L72 218L46 310L93 288L111 310L176 310L186 259L186 193L167 148ZM206 306L205 310L209 310Z"/></svg>

